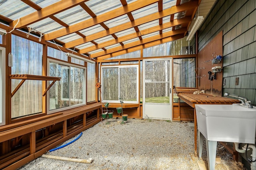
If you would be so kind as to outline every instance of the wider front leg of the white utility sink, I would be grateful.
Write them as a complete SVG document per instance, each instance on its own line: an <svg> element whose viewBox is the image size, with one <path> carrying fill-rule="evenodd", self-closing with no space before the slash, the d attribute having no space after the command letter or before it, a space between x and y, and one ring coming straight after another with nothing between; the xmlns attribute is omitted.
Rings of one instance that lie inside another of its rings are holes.
<svg viewBox="0 0 256 170"><path fill-rule="evenodd" d="M207 158L208 158L208 170L215 169L217 141L206 140Z"/></svg>

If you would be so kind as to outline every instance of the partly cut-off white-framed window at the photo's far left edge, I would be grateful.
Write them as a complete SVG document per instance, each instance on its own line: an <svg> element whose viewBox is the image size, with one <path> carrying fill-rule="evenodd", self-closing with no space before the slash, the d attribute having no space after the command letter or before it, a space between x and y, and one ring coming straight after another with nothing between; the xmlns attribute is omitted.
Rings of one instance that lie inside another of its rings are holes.
<svg viewBox="0 0 256 170"><path fill-rule="evenodd" d="M0 47L0 126L5 125L5 48Z"/></svg>

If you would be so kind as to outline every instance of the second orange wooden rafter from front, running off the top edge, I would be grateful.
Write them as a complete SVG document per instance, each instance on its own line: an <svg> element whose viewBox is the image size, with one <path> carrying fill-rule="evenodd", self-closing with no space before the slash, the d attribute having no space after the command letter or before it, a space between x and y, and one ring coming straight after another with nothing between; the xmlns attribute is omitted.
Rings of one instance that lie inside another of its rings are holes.
<svg viewBox="0 0 256 170"><path fill-rule="evenodd" d="M80 23L71 25L71 26L66 27L66 28L59 29L58 31L53 31L51 33L47 33L47 34L44 35L43 38L44 38L44 40L56 39L58 37L62 37L64 35L68 35L68 34L76 32L76 31L80 31L82 29L86 29L88 27L92 27L92 26L97 25L99 23L102 23L102 22L111 20L113 18L122 16L124 14L127 14L128 12L138 10L138 9L143 8L145 6L148 6L150 4L154 4L155 2L158 2L158 0L139 0L139 1L136 1L136 2L132 2L131 4L128 4L126 6L122 6L120 8L117 8L115 10L112 10L110 12L102 14L100 16L90 18L86 21L82 21Z"/></svg>

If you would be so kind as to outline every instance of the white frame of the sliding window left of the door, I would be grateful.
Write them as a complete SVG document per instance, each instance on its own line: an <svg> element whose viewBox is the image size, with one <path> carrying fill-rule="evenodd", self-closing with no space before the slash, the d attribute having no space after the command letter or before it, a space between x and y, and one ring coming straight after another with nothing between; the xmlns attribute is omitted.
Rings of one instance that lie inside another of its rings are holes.
<svg viewBox="0 0 256 170"><path fill-rule="evenodd" d="M125 101L124 100L124 103L130 103L130 104L138 104L140 101L139 101L139 95L140 95L140 92L139 92L139 65L138 64L134 64L134 65L116 65L116 66L101 66L101 80L102 80L102 93L101 93L101 98L102 98L102 102L105 103L105 102L108 102L108 103L120 103L120 100L104 100L103 99L103 88L104 88L104 81L103 81L103 68L118 68L118 99L120 98L120 68L130 68L130 67L135 67L137 70L136 70L136 101Z"/></svg>

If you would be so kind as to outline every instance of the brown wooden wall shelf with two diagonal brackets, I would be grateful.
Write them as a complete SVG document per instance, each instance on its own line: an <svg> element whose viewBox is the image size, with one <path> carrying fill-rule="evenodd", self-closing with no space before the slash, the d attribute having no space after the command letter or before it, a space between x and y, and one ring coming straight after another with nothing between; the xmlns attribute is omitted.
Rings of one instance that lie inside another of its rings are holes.
<svg viewBox="0 0 256 170"><path fill-rule="evenodd" d="M20 79L21 82L18 84L18 86L13 90L12 96L19 90L20 86L25 82L25 80L49 80L53 81L43 92L43 96L46 95L46 92L52 87L52 85L56 81L60 81L60 77L50 77L50 76L38 76L38 75L30 75L30 74L10 74L10 79Z"/></svg>

